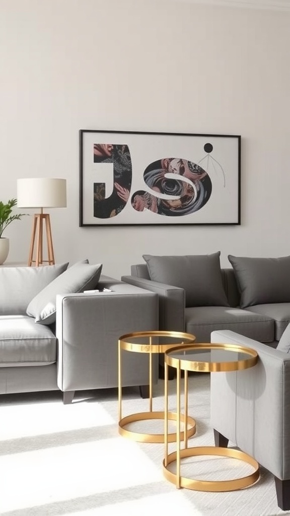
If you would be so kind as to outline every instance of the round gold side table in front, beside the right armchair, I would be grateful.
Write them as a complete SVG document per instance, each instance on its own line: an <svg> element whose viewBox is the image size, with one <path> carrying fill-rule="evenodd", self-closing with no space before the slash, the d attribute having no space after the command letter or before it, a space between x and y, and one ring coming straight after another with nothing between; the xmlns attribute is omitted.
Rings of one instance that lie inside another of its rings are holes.
<svg viewBox="0 0 290 516"><path fill-rule="evenodd" d="M203 373L217 373L237 371L253 367L257 363L257 353L251 348L237 346L234 344L196 344L194 346L179 346L168 349L165 352L165 373L167 374L168 366L176 369L176 412L181 411L181 371L184 371L186 387L184 389L184 403L187 406L188 371L196 371ZM168 377L167 377L168 378ZM167 420L167 397L168 397L168 380L165 384L165 422ZM235 491L251 486L259 479L259 464L255 459L250 457L243 451L233 448L223 448L219 446L195 446L185 447L181 449L181 432L180 417L178 416L176 423L176 451L168 454L168 436L165 423L165 458L163 461L164 476L177 488L187 488L195 491ZM245 477L235 478L232 480L196 480L183 477L181 475L181 459L186 457L215 455L221 457L230 457L239 459L250 464L254 471ZM176 474L169 470L168 465L176 461Z"/></svg>

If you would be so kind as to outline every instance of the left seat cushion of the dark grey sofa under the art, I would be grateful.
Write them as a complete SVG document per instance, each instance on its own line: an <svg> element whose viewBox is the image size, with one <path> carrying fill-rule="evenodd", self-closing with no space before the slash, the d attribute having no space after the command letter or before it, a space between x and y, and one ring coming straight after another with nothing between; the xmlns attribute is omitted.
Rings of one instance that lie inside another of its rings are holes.
<svg viewBox="0 0 290 516"><path fill-rule="evenodd" d="M272 342L275 321L266 315L230 307L195 307L185 309L185 330L197 342L211 342L211 332L232 330L260 342Z"/></svg>

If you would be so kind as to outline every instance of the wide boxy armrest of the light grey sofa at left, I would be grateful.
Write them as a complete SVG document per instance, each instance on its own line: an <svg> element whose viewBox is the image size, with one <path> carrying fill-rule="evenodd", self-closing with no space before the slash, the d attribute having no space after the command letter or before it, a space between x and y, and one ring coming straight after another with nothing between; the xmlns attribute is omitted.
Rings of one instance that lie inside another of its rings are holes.
<svg viewBox="0 0 290 516"><path fill-rule="evenodd" d="M105 282L112 287L112 282ZM58 295L57 383L62 391L118 386L118 339L136 331L158 330L158 298L121 282L114 292ZM125 352L122 385L149 383L148 354ZM153 355L153 381L158 358Z"/></svg>

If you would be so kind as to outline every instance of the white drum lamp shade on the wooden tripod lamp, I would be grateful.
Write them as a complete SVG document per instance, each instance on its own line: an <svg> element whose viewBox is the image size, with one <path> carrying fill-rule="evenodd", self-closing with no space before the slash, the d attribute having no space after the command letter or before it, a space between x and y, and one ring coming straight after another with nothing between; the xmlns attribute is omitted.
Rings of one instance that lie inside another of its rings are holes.
<svg viewBox="0 0 290 516"><path fill-rule="evenodd" d="M65 208L65 179L29 178L17 180L17 206L20 208Z"/></svg>

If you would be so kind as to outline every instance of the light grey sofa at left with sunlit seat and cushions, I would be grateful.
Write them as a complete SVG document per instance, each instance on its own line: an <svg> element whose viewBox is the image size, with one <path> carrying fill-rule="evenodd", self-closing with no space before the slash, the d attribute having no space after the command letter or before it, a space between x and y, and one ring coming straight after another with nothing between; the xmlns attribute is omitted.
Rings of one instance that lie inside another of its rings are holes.
<svg viewBox="0 0 290 516"><path fill-rule="evenodd" d="M118 386L118 338L158 329L157 295L88 263L0 267L0 394ZM83 292L107 288L110 292ZM153 381L158 378L153 357ZM122 384L147 396L148 356L126 353Z"/></svg>

